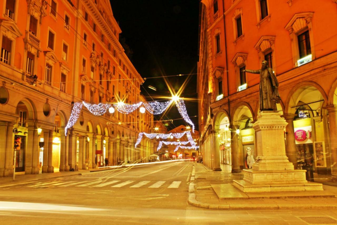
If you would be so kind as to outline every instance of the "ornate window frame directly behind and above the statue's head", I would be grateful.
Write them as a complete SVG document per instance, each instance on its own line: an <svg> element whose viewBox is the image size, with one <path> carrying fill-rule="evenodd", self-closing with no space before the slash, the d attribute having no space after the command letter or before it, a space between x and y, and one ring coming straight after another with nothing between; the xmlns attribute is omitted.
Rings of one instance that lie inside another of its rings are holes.
<svg viewBox="0 0 337 225"><path fill-rule="evenodd" d="M261 38L257 41L254 48L257 50L258 57L260 62L265 60L265 55L268 53L273 54L273 70L276 74L276 60L275 60L275 36L261 36Z"/></svg>

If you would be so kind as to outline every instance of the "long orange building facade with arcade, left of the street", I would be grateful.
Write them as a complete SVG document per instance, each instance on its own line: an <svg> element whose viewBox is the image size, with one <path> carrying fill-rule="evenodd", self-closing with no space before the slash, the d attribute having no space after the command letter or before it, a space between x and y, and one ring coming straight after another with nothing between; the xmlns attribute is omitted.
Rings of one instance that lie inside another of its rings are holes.
<svg viewBox="0 0 337 225"><path fill-rule="evenodd" d="M4 0L0 10L0 176L13 173L14 144L25 174L146 160L153 143L134 143L153 115L139 110L95 116L83 107L65 136L74 102L145 101L110 2Z"/></svg>

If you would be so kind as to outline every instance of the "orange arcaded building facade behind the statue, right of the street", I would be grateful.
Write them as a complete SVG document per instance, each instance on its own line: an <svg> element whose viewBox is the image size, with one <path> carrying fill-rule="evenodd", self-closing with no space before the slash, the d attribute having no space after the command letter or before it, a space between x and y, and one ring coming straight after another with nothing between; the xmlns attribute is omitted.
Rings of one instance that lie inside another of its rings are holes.
<svg viewBox="0 0 337 225"><path fill-rule="evenodd" d="M336 8L331 0L201 1L197 90L208 167L239 172L257 156L260 78L244 70L266 60L279 82L289 161L337 174Z"/></svg>

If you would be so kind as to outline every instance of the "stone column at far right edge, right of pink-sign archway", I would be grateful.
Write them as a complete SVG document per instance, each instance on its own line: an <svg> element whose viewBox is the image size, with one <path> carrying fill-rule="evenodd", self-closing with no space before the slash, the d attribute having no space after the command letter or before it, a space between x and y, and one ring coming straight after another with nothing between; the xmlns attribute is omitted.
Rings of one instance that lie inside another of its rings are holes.
<svg viewBox="0 0 337 225"><path fill-rule="evenodd" d="M328 105L325 109L329 112L329 134L331 148L331 173L337 175L337 105Z"/></svg>

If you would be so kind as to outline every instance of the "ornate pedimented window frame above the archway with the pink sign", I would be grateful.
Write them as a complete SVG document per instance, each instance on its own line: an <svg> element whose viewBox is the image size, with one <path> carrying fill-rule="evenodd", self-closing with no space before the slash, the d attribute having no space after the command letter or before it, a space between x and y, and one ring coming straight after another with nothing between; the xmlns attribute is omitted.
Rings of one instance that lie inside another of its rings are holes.
<svg viewBox="0 0 337 225"><path fill-rule="evenodd" d="M294 14L292 19L289 20L287 25L284 27L288 30L290 35L290 41L292 45L293 52L293 66L297 67L297 60L300 59L300 54L298 51L298 40L297 36L304 31L309 31L310 38L310 48L311 48L311 59L315 59L315 45L313 40L313 31L312 31L312 17L313 12L300 12Z"/></svg>

